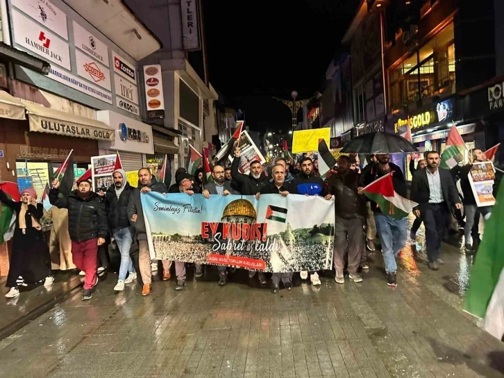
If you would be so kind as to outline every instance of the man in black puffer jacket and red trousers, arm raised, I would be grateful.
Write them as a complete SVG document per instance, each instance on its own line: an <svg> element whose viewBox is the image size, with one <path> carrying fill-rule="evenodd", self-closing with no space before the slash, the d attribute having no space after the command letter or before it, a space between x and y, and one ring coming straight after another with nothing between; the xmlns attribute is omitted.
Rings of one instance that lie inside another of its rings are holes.
<svg viewBox="0 0 504 378"><path fill-rule="evenodd" d="M96 275L98 246L105 243L108 234L105 206L99 195L92 192L91 177L77 181L78 189L68 197L58 196L60 181L54 179L49 191L49 202L68 209L68 232L72 239L72 258L79 270L85 272L82 300L91 299Z"/></svg>

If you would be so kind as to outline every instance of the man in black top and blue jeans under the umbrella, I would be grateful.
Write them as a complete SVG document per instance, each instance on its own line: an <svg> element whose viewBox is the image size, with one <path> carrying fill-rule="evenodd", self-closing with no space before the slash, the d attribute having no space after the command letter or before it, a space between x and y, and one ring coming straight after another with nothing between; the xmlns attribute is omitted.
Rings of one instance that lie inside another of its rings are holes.
<svg viewBox="0 0 504 378"><path fill-rule="evenodd" d="M394 163L390 163L389 154L376 154L376 164L373 164L364 174L364 186L379 179L385 174L392 172L392 183L396 193L406 198L406 181L401 168ZM362 193L362 188L359 190ZM387 273L387 285L397 285L397 264L396 257L406 244L406 218L397 220L394 217L382 213L380 206L376 202L371 203L371 210L376 222L376 231L382 242L382 255L385 261L385 272Z"/></svg>

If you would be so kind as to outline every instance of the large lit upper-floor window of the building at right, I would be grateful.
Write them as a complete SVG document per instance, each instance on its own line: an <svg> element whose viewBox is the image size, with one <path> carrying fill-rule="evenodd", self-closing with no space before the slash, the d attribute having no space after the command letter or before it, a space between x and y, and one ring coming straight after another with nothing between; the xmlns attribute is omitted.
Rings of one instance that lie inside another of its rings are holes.
<svg viewBox="0 0 504 378"><path fill-rule="evenodd" d="M392 110L448 90L455 91L453 23L389 71Z"/></svg>

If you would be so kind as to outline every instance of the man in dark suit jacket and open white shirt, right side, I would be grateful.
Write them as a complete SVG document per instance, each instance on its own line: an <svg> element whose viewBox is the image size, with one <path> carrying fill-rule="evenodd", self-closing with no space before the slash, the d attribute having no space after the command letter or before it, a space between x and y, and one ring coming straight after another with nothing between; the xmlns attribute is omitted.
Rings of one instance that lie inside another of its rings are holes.
<svg viewBox="0 0 504 378"><path fill-rule="evenodd" d="M426 227L428 267L439 269L439 249L448 225L450 210L461 208L457 187L449 170L439 168L439 154L426 154L427 167L417 170L411 184L411 199L419 205L414 215L421 217Z"/></svg>

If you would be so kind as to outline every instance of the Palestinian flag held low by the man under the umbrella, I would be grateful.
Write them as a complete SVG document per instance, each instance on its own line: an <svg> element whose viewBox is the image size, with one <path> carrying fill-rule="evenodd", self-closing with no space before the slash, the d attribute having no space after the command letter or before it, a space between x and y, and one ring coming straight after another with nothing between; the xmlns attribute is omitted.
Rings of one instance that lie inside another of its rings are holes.
<svg viewBox="0 0 504 378"><path fill-rule="evenodd" d="M417 202L401 197L396 193L392 182L392 172L366 186L364 194L380 206L383 214L390 215L394 219L407 217L413 211L413 208L418 205Z"/></svg>

